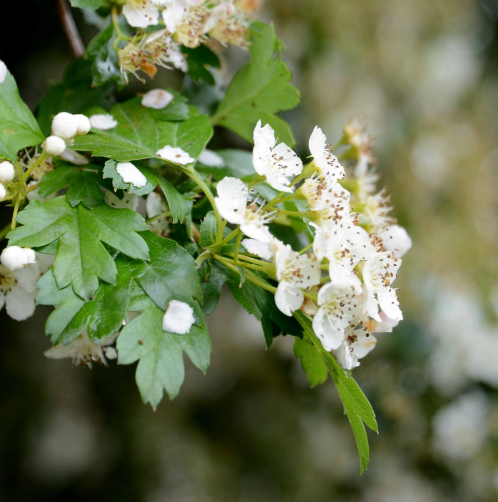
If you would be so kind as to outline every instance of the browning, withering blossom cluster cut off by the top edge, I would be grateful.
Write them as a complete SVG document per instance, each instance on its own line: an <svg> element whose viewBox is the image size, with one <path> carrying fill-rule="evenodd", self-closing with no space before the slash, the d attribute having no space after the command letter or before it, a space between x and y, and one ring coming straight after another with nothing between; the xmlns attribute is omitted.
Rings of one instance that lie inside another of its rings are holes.
<svg viewBox="0 0 498 502"><path fill-rule="evenodd" d="M163 23L165 28L119 49L121 71L137 76L141 70L149 77L157 71L156 65L187 71L181 46L195 48L210 40L244 47L251 8L238 4L233 0L126 0L123 15L130 26Z"/></svg>

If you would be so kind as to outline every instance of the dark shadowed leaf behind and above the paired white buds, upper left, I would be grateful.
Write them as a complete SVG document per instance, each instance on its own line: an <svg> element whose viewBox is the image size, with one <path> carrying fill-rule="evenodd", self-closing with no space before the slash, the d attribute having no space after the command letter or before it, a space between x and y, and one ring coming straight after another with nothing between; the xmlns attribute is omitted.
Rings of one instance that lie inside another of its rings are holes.
<svg viewBox="0 0 498 502"><path fill-rule="evenodd" d="M71 62L60 84L51 83L50 89L36 110L38 122L45 136L50 135L52 119L60 111L87 113L91 108L110 108L107 97L115 88L112 83L92 87L91 63L82 59Z"/></svg>

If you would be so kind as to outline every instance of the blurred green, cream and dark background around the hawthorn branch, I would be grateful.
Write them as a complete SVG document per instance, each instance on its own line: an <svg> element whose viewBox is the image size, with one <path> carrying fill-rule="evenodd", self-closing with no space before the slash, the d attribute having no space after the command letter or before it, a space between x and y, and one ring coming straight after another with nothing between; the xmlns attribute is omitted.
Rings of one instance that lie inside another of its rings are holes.
<svg viewBox="0 0 498 502"><path fill-rule="evenodd" d="M51 3L19 4L12 19L29 12L30 26L4 37L0 59L34 108L71 55ZM88 42L95 28L75 16ZM498 3L267 0L260 17L302 93L285 115L298 152L315 124L334 141L362 118L413 238L405 320L355 370L379 421L371 467L359 476L333 384L309 390L290 337L265 350L228 294L208 373L187 363L180 396L155 413L133 367L48 360L48 311L23 323L3 311L1 500L498 499Z"/></svg>

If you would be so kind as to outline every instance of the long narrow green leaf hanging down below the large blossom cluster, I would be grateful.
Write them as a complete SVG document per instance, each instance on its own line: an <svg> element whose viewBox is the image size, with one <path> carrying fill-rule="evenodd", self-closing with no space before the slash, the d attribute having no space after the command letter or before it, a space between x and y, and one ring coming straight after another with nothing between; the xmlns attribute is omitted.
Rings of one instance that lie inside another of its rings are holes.
<svg viewBox="0 0 498 502"><path fill-rule="evenodd" d="M344 405L345 413L353 430L356 446L360 455L360 468L363 474L368 468L370 450L368 446L367 434L363 422L373 431L378 432L375 413L368 399L353 378L348 378L339 366L336 358L327 352L316 338L311 327L311 321L300 311L294 312L294 317L304 329L304 340L310 343L321 355L327 366L328 372L334 380L334 384L339 392ZM363 421L363 422L362 422Z"/></svg>

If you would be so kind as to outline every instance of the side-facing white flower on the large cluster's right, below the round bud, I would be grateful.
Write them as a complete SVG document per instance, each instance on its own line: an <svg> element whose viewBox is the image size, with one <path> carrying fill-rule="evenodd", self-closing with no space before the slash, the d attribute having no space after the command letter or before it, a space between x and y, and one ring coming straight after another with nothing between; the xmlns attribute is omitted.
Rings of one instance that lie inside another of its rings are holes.
<svg viewBox="0 0 498 502"><path fill-rule="evenodd" d="M376 321L381 321L379 307L389 319L403 319L396 290L391 288L400 266L392 252L376 253L363 266L365 312Z"/></svg>

